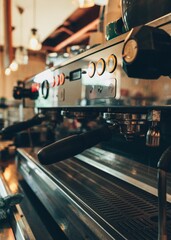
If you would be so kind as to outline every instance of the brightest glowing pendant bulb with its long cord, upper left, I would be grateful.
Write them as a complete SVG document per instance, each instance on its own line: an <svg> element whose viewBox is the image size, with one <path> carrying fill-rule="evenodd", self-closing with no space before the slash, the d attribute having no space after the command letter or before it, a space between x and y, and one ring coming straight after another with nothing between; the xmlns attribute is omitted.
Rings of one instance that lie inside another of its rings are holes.
<svg viewBox="0 0 171 240"><path fill-rule="evenodd" d="M36 23L36 0L33 0L33 28L31 29L31 37L29 40L28 48L33 51L39 51L42 48L42 44L39 41L37 29L35 28Z"/></svg>

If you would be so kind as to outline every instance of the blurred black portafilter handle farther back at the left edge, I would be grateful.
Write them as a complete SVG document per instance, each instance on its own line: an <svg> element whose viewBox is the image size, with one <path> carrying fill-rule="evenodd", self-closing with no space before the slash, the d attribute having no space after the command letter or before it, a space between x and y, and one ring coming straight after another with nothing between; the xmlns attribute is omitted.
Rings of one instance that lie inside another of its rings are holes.
<svg viewBox="0 0 171 240"><path fill-rule="evenodd" d="M33 117L33 118L31 118L27 121L19 122L19 123L16 123L16 124L13 124L11 126L8 126L6 128L1 129L0 134L3 135L3 136L13 135L17 132L26 130L30 127L35 126L35 125L39 125L43 121L43 119L44 118L38 117L38 116Z"/></svg>

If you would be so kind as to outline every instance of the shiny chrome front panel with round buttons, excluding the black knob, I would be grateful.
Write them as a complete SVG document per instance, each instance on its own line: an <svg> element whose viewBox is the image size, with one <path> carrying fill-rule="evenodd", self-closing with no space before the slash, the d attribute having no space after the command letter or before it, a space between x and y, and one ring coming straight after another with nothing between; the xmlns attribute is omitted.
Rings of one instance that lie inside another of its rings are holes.
<svg viewBox="0 0 171 240"><path fill-rule="evenodd" d="M168 14L150 23L150 26L170 33L170 21L171 15ZM156 79L130 78L123 70L123 45L128 34L37 74L31 79L32 87L39 91L35 106L168 106L171 101L169 76ZM164 61L170 61L169 52ZM26 84L28 86L29 81Z"/></svg>

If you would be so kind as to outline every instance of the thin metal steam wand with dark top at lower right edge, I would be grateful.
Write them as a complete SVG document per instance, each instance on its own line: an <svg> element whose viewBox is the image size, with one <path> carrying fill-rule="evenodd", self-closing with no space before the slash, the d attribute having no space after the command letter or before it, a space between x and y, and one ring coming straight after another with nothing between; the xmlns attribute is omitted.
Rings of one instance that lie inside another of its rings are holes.
<svg viewBox="0 0 171 240"><path fill-rule="evenodd" d="M158 240L167 240L166 230L166 185L167 171L171 160L171 146L168 147L158 162Z"/></svg>

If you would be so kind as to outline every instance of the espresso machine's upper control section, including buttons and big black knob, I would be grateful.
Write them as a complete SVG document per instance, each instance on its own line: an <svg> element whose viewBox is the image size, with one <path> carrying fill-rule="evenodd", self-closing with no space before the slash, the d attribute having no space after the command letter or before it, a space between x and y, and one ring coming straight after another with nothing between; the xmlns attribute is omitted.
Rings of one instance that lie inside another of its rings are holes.
<svg viewBox="0 0 171 240"><path fill-rule="evenodd" d="M36 86L35 107L170 105L170 21L168 14L37 74L26 83Z"/></svg>

